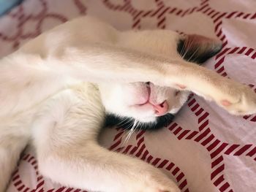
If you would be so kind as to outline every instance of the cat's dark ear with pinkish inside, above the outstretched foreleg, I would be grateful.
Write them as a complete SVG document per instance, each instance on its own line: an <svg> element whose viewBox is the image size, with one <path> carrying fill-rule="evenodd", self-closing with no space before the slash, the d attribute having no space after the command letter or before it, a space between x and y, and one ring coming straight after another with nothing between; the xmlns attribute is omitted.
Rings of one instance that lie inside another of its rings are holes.
<svg viewBox="0 0 256 192"><path fill-rule="evenodd" d="M203 64L208 58L219 53L222 42L197 34L181 36L177 51L186 61Z"/></svg>

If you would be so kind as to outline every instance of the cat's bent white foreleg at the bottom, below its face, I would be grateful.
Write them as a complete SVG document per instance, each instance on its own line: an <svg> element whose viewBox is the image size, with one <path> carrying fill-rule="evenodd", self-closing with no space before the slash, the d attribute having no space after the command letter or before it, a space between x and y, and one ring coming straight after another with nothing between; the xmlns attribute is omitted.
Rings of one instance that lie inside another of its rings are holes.
<svg viewBox="0 0 256 192"><path fill-rule="evenodd" d="M94 87L88 93L83 88L59 93L39 112L34 122L39 171L62 185L90 191L180 191L154 166L99 146L105 112Z"/></svg>

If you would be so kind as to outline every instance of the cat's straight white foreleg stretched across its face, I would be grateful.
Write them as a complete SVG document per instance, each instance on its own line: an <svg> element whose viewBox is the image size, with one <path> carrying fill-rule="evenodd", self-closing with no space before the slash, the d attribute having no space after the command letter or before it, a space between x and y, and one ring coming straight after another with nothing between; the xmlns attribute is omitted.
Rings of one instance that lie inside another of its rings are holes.
<svg viewBox="0 0 256 192"><path fill-rule="evenodd" d="M256 93L251 88L182 59L162 58L113 45L90 44L68 47L59 61L70 63L69 74L73 72L74 77L85 77L91 82L149 81L197 93L233 115L256 113Z"/></svg>

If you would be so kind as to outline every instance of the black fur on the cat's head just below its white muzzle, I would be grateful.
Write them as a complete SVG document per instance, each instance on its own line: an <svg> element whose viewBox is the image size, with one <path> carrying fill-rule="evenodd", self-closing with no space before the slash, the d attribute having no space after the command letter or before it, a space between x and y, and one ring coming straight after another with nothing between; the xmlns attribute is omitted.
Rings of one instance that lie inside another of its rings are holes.
<svg viewBox="0 0 256 192"><path fill-rule="evenodd" d="M166 115L157 117L155 123L139 123L137 130L157 130L164 126L168 126L173 120L174 115L167 113ZM114 114L107 114L105 118L105 126L119 126L124 129L131 129L135 122L135 118L120 117Z"/></svg>

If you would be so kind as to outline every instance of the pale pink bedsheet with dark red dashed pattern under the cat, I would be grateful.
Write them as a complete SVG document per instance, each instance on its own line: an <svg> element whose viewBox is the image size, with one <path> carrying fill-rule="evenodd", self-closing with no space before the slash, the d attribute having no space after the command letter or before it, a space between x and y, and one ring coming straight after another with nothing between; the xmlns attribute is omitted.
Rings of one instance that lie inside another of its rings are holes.
<svg viewBox="0 0 256 192"><path fill-rule="evenodd" d="M166 28L219 38L224 48L206 66L255 89L255 7L254 0L27 0L0 18L0 55L66 20L94 15L122 30ZM255 126L256 115L234 117L192 96L176 120L161 131L140 131L124 143L124 131L106 129L101 141L110 150L159 167L183 192L254 192ZM34 151L28 148L8 191L80 190L42 177Z"/></svg>

